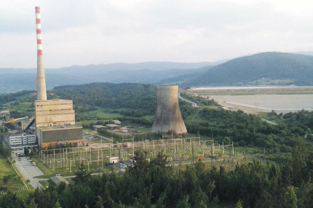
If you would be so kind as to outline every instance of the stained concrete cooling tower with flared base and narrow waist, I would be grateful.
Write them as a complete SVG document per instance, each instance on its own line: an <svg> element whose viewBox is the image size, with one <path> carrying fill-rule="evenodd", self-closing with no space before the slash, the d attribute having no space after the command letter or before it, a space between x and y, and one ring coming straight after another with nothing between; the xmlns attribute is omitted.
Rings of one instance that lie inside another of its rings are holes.
<svg viewBox="0 0 313 208"><path fill-rule="evenodd" d="M178 86L157 86L156 115L151 132L186 133L178 106Z"/></svg>

